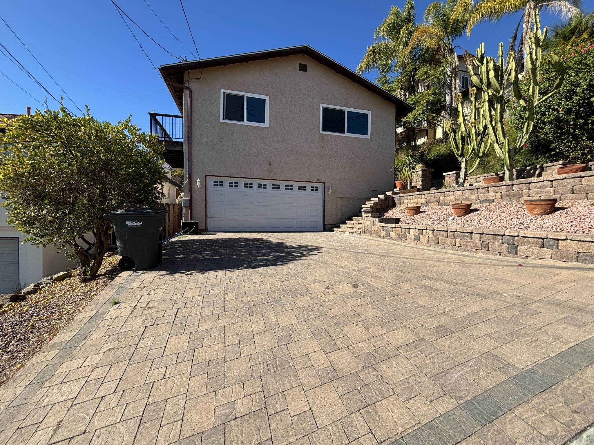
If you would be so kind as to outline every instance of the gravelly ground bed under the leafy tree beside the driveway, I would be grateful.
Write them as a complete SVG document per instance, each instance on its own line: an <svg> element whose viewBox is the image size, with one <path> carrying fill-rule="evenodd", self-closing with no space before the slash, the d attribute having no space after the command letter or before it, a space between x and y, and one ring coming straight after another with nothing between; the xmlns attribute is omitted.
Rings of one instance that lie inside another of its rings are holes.
<svg viewBox="0 0 594 445"><path fill-rule="evenodd" d="M96 279L72 278L54 282L23 301L0 309L0 385L40 351L64 326L115 278L119 256L103 261Z"/></svg>

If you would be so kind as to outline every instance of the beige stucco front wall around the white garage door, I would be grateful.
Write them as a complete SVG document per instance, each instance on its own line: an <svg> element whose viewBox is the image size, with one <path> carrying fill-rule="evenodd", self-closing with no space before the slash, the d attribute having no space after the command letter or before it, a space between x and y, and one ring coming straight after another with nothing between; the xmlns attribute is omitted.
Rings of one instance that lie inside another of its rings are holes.
<svg viewBox="0 0 594 445"><path fill-rule="evenodd" d="M307 63L308 71L298 70ZM395 106L307 56L189 71L192 218L206 227L206 175L325 182L325 224L392 187ZM220 122L220 90L269 96L269 126ZM187 99L187 97L186 97ZM320 134L320 104L371 111L371 138ZM328 187L333 193L328 194ZM186 190L187 196L187 190ZM187 216L185 217L187 219Z"/></svg>

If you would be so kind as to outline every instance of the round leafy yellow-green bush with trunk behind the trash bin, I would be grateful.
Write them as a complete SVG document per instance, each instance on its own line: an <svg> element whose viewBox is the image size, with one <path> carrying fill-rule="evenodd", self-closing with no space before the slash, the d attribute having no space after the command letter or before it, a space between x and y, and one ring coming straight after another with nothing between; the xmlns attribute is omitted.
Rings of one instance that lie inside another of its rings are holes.
<svg viewBox="0 0 594 445"><path fill-rule="evenodd" d="M95 276L109 247L103 214L156 205L165 171L156 135L130 118L99 122L61 110L0 122L0 196L7 222L36 246L71 251ZM94 241L85 239L92 233ZM87 249L87 246L93 249Z"/></svg>

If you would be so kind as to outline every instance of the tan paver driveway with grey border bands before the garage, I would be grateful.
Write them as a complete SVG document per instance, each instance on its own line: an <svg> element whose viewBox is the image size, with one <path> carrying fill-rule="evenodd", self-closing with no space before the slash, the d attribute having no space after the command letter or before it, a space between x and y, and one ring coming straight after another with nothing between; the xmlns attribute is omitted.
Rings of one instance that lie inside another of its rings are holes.
<svg viewBox="0 0 594 445"><path fill-rule="evenodd" d="M164 258L0 388L0 444L562 443L594 421L589 266L331 233Z"/></svg>

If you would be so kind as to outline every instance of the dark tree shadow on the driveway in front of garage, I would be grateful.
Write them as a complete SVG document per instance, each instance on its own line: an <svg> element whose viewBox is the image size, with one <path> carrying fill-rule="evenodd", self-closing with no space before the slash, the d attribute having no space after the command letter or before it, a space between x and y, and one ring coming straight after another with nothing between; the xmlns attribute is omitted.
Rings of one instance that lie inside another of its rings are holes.
<svg viewBox="0 0 594 445"><path fill-rule="evenodd" d="M163 245L160 269L172 273L282 266L320 252L321 247L260 237L184 237Z"/></svg>

